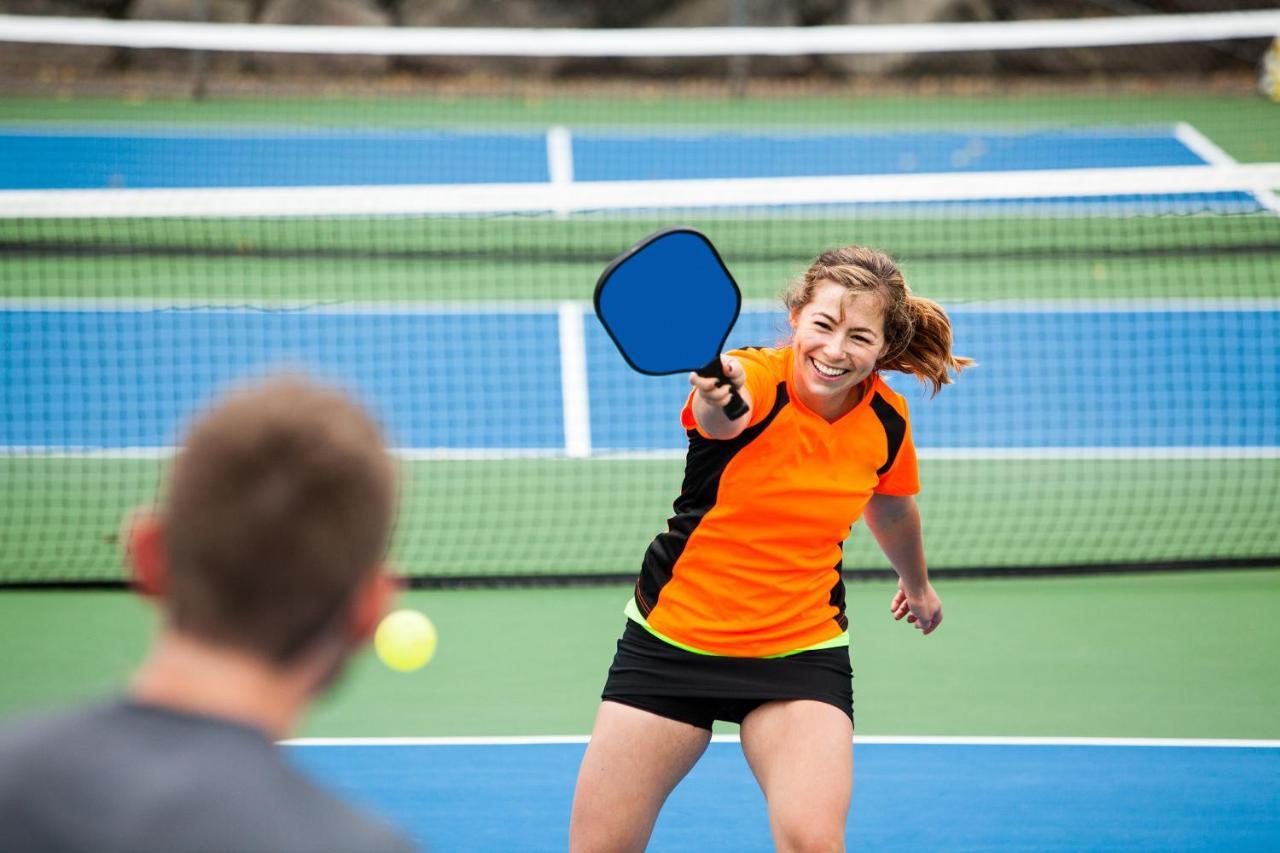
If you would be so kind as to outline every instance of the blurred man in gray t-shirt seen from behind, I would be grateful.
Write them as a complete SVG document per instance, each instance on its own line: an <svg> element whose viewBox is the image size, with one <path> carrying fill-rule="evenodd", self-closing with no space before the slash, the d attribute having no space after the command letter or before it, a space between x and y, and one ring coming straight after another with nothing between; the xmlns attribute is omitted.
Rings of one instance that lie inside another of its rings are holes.
<svg viewBox="0 0 1280 853"><path fill-rule="evenodd" d="M412 849L274 744L388 605L394 498L378 428L338 393L278 379L200 418L127 530L151 652L125 695L0 729L0 849Z"/></svg>

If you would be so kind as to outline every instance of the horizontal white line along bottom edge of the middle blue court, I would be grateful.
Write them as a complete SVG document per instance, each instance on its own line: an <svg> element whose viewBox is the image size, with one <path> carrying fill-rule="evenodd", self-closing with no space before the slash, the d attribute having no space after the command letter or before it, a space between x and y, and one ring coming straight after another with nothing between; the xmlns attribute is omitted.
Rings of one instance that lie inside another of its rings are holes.
<svg viewBox="0 0 1280 853"><path fill-rule="evenodd" d="M586 403L582 401L582 414ZM575 403L576 406L576 403ZM568 414L566 403L566 414ZM567 421L566 421L567 423ZM571 437L566 430L566 446L552 447L401 447L392 453L410 462L500 462L508 460L582 459L593 462L631 462L682 460L685 451L645 450L609 451L593 450L590 428L585 434ZM571 451L576 451L572 452ZM0 444L0 459L123 459L165 460L173 456L173 447L61 447L46 444ZM1181 460L1245 460L1280 459L1280 447L932 447L922 448L918 456L925 461L1181 461Z"/></svg>

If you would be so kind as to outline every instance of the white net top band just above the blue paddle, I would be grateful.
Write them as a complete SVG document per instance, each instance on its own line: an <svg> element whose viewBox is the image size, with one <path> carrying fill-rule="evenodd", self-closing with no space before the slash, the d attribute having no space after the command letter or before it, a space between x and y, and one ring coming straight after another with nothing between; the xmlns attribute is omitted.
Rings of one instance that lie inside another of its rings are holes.
<svg viewBox="0 0 1280 853"><path fill-rule="evenodd" d="M1266 193L1280 163L936 174L550 183L15 190L0 218L483 215L742 206Z"/></svg>

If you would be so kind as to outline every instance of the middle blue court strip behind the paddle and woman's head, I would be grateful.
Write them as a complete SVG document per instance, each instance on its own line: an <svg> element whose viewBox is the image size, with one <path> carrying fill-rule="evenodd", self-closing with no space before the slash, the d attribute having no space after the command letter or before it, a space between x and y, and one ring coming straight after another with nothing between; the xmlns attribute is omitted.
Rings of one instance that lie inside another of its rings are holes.
<svg viewBox="0 0 1280 853"><path fill-rule="evenodd" d="M964 393L929 400L914 379L890 379L929 448L1274 448L1280 307L1266 305L961 307L956 350L980 365ZM682 451L686 378L632 373L589 306L580 310L577 382L593 450ZM781 314L745 313L730 346L772 346L785 332ZM0 309L0 446L166 447L212 393L280 368L351 388L403 448L556 453L567 441L556 306L10 307Z"/></svg>

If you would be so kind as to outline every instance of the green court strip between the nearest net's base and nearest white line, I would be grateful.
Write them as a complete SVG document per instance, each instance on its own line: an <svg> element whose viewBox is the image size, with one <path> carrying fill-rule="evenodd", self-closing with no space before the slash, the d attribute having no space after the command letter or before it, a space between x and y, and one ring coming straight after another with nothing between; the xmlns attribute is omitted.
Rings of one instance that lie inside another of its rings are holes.
<svg viewBox="0 0 1280 853"><path fill-rule="evenodd" d="M1280 571L940 581L928 638L892 621L892 590L849 585L861 734L1280 738ZM404 593L435 660L362 653L300 734L586 734L627 594ZM0 593L0 716L119 689L151 622L128 593Z"/></svg>

